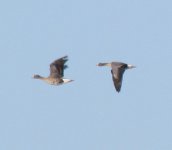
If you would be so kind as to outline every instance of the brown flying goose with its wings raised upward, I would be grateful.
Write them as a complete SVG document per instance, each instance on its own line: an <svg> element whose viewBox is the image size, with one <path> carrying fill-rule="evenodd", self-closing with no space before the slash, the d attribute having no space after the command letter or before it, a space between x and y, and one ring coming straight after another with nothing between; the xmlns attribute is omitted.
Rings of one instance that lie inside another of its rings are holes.
<svg viewBox="0 0 172 150"><path fill-rule="evenodd" d="M51 85L61 85L63 83L68 83L68 82L73 81L71 79L63 78L64 69L68 67L67 65L65 65L66 61L68 61L67 56L61 57L53 61L50 64L50 75L48 77L42 77L40 75L33 75L33 78L43 80Z"/></svg>

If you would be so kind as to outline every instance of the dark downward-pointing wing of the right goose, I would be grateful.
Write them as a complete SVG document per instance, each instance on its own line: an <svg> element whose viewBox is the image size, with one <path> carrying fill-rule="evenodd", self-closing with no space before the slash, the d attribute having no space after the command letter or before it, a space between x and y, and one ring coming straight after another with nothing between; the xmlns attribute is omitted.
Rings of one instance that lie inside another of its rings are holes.
<svg viewBox="0 0 172 150"><path fill-rule="evenodd" d="M112 80L117 92L120 92L122 86L123 74L126 69L126 64L114 65L112 64Z"/></svg>

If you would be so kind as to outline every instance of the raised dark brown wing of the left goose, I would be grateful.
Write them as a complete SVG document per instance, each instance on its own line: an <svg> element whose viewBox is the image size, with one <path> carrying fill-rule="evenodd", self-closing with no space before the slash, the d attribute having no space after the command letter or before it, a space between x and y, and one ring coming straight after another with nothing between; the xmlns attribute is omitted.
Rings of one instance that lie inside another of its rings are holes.
<svg viewBox="0 0 172 150"><path fill-rule="evenodd" d="M50 64L50 77L53 77L53 78L63 77L64 69L67 68L67 65L65 65L66 61L68 61L68 57L64 56L52 62Z"/></svg>

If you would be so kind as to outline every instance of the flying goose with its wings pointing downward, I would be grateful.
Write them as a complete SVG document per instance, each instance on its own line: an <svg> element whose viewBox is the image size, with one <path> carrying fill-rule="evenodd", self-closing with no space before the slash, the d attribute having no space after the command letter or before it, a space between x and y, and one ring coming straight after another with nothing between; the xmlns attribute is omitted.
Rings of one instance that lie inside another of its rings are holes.
<svg viewBox="0 0 172 150"><path fill-rule="evenodd" d="M125 64L122 62L111 62L111 63L99 63L97 66L109 66L111 67L112 80L117 92L120 92L122 85L122 78L126 69L135 68L133 65Z"/></svg>

